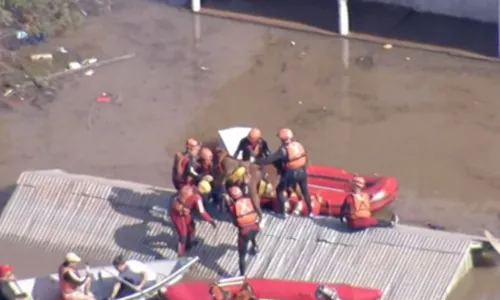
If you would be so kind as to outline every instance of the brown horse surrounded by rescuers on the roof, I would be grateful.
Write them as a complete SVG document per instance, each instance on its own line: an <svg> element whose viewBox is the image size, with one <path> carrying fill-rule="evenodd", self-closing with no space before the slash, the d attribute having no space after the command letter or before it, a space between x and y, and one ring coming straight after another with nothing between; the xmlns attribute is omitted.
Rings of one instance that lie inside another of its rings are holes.
<svg viewBox="0 0 500 300"><path fill-rule="evenodd" d="M215 167L215 183L217 185L225 184L225 181L229 175L231 175L237 168L245 167L248 174L248 188L250 192L250 197L252 199L252 203L255 206L255 209L262 216L262 209L260 206L260 196L258 193L258 185L259 182L266 179L276 187L278 172L276 168L270 164L263 166L262 168L251 162L244 162L233 158L222 148L216 147L214 150L214 167Z"/></svg>

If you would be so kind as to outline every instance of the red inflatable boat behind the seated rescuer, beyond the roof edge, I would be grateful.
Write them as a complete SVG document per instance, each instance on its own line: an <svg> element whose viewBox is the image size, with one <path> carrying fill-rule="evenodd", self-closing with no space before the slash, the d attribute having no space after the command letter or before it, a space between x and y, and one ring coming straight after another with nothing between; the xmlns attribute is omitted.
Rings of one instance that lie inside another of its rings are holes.
<svg viewBox="0 0 500 300"><path fill-rule="evenodd" d="M354 174L343 169L310 165L307 168L309 193L323 197L321 214L336 216L351 190ZM371 210L377 211L396 199L398 182L389 176L362 176L366 180L365 192L371 195Z"/></svg>

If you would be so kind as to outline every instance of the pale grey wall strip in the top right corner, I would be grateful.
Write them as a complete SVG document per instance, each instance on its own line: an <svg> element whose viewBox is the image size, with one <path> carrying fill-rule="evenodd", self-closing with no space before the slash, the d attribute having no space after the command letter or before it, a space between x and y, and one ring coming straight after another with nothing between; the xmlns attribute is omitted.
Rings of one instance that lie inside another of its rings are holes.
<svg viewBox="0 0 500 300"><path fill-rule="evenodd" d="M419 12L497 23L499 0L363 0L401 5Z"/></svg>

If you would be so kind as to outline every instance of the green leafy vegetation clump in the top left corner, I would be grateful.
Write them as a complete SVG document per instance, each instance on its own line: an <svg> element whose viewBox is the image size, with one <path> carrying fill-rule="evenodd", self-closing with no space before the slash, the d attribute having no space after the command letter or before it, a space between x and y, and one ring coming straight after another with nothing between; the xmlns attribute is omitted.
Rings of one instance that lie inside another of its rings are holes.
<svg viewBox="0 0 500 300"><path fill-rule="evenodd" d="M0 23L5 27L61 34L82 19L78 0L0 0Z"/></svg>

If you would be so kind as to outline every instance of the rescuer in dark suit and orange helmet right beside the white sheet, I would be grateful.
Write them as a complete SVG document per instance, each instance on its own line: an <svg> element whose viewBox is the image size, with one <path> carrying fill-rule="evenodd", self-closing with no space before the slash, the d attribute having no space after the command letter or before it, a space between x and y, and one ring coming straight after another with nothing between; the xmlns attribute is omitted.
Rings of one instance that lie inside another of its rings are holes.
<svg viewBox="0 0 500 300"><path fill-rule="evenodd" d="M233 157L238 158L241 153L243 161L255 161L257 158L266 158L271 154L269 146L262 138L262 132L259 128L252 128L248 135L241 139Z"/></svg>

